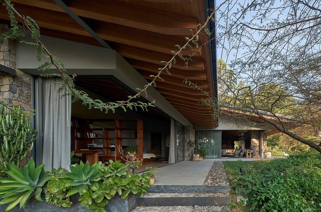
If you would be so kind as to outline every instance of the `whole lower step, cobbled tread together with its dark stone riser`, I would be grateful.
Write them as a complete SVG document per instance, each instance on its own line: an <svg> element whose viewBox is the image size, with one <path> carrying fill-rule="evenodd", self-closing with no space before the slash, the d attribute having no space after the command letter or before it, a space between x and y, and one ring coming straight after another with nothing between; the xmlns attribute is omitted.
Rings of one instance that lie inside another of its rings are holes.
<svg viewBox="0 0 321 212"><path fill-rule="evenodd" d="M148 193L137 198L137 206L226 206L230 193Z"/></svg>

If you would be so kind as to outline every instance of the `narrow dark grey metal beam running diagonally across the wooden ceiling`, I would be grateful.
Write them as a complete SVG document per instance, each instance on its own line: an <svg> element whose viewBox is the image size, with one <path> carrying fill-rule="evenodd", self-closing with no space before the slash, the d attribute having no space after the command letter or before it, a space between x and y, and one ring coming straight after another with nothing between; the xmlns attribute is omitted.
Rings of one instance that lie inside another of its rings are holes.
<svg viewBox="0 0 321 212"><path fill-rule="evenodd" d="M103 39L101 39L96 32L89 27L78 15L76 15L62 0L54 0L70 17L82 26L92 37L94 37L105 48L112 49Z"/></svg>

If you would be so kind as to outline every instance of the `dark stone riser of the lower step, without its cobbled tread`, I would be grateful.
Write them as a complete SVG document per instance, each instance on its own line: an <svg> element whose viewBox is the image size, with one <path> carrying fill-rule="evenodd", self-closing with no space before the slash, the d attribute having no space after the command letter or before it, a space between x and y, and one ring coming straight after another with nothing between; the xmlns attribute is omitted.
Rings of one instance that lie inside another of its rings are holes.
<svg viewBox="0 0 321 212"><path fill-rule="evenodd" d="M232 197L150 197L137 198L137 206L227 206Z"/></svg>

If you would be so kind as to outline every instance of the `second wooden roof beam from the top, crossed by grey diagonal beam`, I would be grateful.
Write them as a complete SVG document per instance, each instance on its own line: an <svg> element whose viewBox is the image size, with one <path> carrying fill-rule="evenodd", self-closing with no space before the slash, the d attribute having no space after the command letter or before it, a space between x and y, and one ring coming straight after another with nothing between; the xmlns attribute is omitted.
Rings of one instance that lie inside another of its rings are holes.
<svg viewBox="0 0 321 212"><path fill-rule="evenodd" d="M24 2L24 4L29 2ZM41 14L48 14L46 16L37 15L34 20L39 22L40 27L46 27L56 30L64 30L70 33L77 33L80 35L87 35L85 33L86 30L82 30L80 26L71 18L68 14L64 12L53 12L52 10L47 9L39 9L37 7L26 6L23 4L15 4L17 10L26 12L33 12L33 16L35 16L35 12L39 11ZM28 10L28 11L24 11ZM21 13L22 13L21 12ZM24 13L22 13L24 14ZM30 16L31 17L31 16ZM55 21L52 21L54 19ZM53 26L53 24L56 26ZM69 26L70 23L74 23L74 26ZM68 26L68 27L65 27ZM142 47L150 50L154 50L157 52L170 53L172 50L176 50L175 45L184 45L185 39L181 39L174 36L162 35L159 33L153 33L145 30L135 29L131 27L126 27L118 24L108 23L104 21L93 21L93 30L96 35L100 38L118 42L122 44L132 45L136 47ZM79 30L81 32L79 33ZM196 47L194 47L196 49ZM182 51L183 55L191 54L192 52L188 50ZM199 52L196 52L197 55L200 55Z"/></svg>

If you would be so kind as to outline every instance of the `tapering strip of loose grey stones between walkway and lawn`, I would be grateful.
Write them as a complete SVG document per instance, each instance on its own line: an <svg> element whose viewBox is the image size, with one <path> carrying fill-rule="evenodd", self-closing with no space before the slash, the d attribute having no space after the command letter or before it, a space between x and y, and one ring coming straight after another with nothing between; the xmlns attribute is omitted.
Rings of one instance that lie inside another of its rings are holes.
<svg viewBox="0 0 321 212"><path fill-rule="evenodd" d="M213 166L208 173L203 185L227 185L230 183L226 180L227 174L222 161L214 161Z"/></svg>

